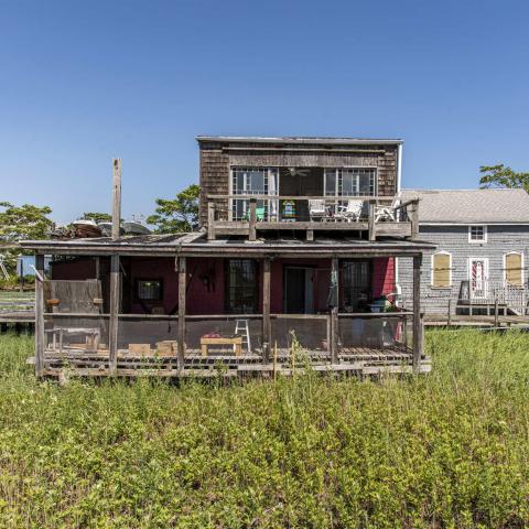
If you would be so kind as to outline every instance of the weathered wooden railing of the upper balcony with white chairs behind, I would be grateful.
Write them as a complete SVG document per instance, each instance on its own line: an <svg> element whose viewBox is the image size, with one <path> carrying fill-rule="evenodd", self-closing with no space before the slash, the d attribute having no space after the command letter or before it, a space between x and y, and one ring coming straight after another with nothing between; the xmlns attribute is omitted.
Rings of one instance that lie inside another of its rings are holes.
<svg viewBox="0 0 529 529"><path fill-rule="evenodd" d="M377 236L417 238L419 199L400 203L396 196L295 196L233 194L207 196L208 238L258 230L367 231Z"/></svg>

